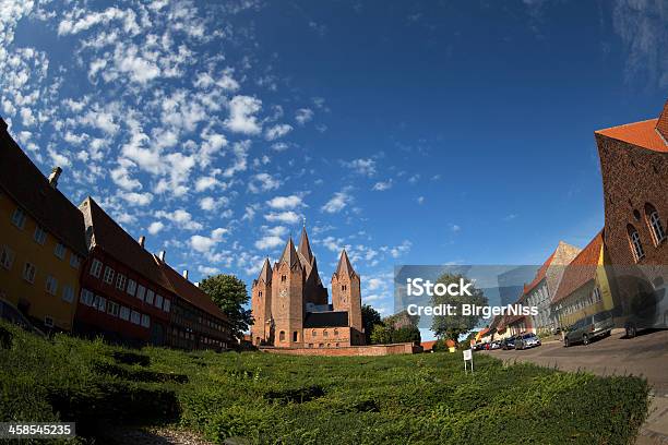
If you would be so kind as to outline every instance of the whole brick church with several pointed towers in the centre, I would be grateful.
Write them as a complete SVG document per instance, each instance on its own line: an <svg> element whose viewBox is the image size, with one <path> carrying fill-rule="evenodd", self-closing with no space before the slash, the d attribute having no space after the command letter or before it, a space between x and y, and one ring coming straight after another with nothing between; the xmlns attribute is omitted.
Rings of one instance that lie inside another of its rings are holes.
<svg viewBox="0 0 668 445"><path fill-rule="evenodd" d="M332 275L332 303L318 273L306 227L299 248L290 237L278 262L264 261L252 285L253 345L336 348L365 345L359 275L345 249Z"/></svg>

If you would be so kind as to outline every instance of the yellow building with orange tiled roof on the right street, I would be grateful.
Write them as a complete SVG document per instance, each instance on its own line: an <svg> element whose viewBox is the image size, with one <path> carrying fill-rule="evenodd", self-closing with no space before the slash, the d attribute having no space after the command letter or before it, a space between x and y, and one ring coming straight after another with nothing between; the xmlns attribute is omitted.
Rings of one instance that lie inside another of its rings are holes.
<svg viewBox="0 0 668 445"><path fill-rule="evenodd" d="M566 266L552 300L561 327L615 306L605 255L601 230Z"/></svg>

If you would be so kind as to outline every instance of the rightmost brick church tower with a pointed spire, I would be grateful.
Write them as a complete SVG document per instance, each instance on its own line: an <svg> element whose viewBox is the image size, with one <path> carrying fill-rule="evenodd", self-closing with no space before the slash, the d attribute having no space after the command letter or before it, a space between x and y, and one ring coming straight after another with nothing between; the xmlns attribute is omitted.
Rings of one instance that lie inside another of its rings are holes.
<svg viewBox="0 0 668 445"><path fill-rule="evenodd" d="M334 311L348 312L350 345L363 345L360 279L353 268L345 249L341 252L338 266L332 275L332 304Z"/></svg>

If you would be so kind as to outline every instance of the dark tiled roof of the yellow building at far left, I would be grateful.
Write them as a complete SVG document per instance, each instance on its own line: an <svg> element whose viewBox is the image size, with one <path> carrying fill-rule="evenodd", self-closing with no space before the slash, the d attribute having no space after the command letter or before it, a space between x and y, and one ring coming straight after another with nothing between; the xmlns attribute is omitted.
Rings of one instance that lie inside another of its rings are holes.
<svg viewBox="0 0 668 445"><path fill-rule="evenodd" d="M0 189L49 233L79 255L86 255L81 212L41 171L4 130L0 119Z"/></svg>

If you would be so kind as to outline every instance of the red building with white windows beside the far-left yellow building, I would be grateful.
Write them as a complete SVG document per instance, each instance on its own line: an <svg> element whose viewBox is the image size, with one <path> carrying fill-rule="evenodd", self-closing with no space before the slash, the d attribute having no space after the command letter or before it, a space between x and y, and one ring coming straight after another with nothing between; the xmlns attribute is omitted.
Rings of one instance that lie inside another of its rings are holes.
<svg viewBox="0 0 668 445"><path fill-rule="evenodd" d="M133 346L166 345L176 296L143 237L135 241L91 197L80 209L90 255L74 332Z"/></svg>

